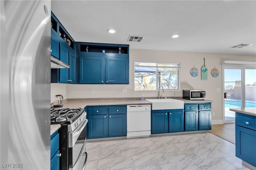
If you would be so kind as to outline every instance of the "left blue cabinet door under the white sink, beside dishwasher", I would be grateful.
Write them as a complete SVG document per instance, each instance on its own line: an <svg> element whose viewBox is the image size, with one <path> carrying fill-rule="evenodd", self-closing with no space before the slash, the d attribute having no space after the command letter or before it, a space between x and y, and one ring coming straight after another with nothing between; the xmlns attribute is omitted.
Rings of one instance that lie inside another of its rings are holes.
<svg viewBox="0 0 256 170"><path fill-rule="evenodd" d="M156 112L151 117L151 133L168 133L168 113Z"/></svg>

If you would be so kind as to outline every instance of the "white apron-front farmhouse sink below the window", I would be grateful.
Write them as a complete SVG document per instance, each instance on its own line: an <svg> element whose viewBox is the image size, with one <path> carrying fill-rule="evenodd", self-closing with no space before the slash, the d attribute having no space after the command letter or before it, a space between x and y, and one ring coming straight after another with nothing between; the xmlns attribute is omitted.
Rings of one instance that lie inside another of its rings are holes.
<svg viewBox="0 0 256 170"><path fill-rule="evenodd" d="M146 99L152 102L152 110L184 109L184 102L176 99Z"/></svg>

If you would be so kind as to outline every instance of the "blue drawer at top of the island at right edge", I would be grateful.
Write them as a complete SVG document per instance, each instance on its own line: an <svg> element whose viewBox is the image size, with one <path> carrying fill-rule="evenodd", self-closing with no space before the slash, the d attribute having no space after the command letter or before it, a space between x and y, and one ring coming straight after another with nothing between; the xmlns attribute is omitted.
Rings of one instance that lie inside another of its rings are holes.
<svg viewBox="0 0 256 170"><path fill-rule="evenodd" d="M255 116L254 116L255 117ZM236 114L236 125L246 127L248 129L256 130L256 120L252 117L246 117Z"/></svg>

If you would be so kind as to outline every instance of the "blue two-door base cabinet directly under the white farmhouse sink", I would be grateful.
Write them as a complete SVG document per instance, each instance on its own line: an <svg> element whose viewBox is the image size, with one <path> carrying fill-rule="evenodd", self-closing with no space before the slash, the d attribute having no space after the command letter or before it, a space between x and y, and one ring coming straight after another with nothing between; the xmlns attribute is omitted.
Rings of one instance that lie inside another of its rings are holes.
<svg viewBox="0 0 256 170"><path fill-rule="evenodd" d="M183 109L152 110L151 133L172 133L184 131Z"/></svg>

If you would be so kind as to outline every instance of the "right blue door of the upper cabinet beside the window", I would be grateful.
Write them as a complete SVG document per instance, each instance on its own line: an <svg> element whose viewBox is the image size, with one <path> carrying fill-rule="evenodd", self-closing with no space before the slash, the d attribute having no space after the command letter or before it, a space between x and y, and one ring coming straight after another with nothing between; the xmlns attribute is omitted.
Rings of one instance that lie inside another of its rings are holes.
<svg viewBox="0 0 256 170"><path fill-rule="evenodd" d="M106 84L129 84L128 55L106 58Z"/></svg>

